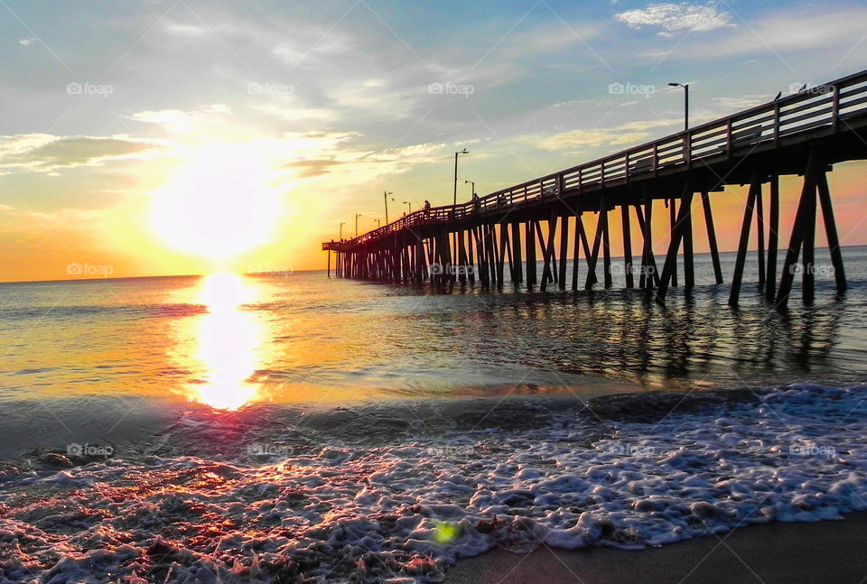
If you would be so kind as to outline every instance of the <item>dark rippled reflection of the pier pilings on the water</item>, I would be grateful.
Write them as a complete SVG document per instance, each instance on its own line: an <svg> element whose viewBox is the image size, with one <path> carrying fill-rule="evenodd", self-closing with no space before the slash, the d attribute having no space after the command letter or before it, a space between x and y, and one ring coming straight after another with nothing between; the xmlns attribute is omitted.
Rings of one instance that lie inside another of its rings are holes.
<svg viewBox="0 0 867 584"><path fill-rule="evenodd" d="M833 283L822 285L833 288ZM832 354L844 313L844 305L836 302L821 310L790 311L750 302L730 311L714 299L713 286L699 286L667 308L625 292L508 294L483 301L490 302L486 311L504 317L486 319L484 336L514 338L514 331L499 328L520 327L522 362L546 370L644 387L695 386L702 379L781 383L803 379L814 369L826 377L845 373ZM517 311L524 318L506 318Z"/></svg>

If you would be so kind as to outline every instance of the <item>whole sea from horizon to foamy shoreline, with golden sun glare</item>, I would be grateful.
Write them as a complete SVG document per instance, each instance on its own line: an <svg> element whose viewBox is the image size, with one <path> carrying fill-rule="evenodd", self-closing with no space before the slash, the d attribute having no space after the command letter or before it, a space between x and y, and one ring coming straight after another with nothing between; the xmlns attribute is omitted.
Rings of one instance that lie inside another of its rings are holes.
<svg viewBox="0 0 867 584"><path fill-rule="evenodd" d="M867 248L844 260L843 297L822 269L785 312L753 257L728 307L704 255L666 306L324 272L0 284L0 581L438 581L494 546L865 509Z"/></svg>

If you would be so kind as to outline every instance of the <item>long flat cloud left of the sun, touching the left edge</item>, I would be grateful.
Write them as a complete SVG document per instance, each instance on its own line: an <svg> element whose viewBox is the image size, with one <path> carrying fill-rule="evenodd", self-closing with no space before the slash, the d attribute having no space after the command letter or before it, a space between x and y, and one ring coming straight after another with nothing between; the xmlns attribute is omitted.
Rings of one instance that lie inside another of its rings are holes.
<svg viewBox="0 0 867 584"><path fill-rule="evenodd" d="M157 144L126 137L22 134L0 137L0 173L54 171L124 159Z"/></svg>

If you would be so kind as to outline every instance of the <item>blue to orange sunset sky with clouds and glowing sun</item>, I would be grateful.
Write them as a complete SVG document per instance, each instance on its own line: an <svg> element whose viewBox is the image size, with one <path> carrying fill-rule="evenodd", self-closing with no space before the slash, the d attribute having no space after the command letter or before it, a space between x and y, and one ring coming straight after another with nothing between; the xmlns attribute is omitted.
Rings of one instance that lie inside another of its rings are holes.
<svg viewBox="0 0 867 584"><path fill-rule="evenodd" d="M484 195L678 132L671 81L698 124L867 69L864 22L863 2L0 0L0 281L322 269L385 191L390 220L450 203L456 150L459 199ZM867 166L837 170L842 241L865 244ZM713 204L733 249L742 196Z"/></svg>

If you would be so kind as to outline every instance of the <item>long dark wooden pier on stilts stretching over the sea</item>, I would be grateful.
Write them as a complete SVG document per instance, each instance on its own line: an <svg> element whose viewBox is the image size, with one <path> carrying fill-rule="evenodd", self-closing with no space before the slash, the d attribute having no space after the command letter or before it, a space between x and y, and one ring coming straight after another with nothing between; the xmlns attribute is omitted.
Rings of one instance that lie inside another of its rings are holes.
<svg viewBox="0 0 867 584"><path fill-rule="evenodd" d="M758 277L765 297L785 307L799 271L803 299L810 303L815 294L817 199L836 291L842 293L846 288L826 174L834 163L864 158L867 71L499 190L477 201L415 211L349 241L325 242L322 249L329 252L329 275L333 251L337 275L347 278L389 283L429 280L451 285L474 284L478 276L481 286L487 288L502 286L508 269L508 277L516 286L523 283L532 289L537 284L543 291L552 283L561 290L569 285L566 272L571 250L572 290L579 288L583 255L584 288L591 289L595 283L611 288L613 276L620 272L627 288L638 284L662 302L668 288L677 285L678 255L682 256L685 289L695 287L692 216L698 200L715 280L717 284L723 282L711 195L726 185L748 184L729 303L739 301L753 215L759 242ZM778 249L782 175L804 177L788 249ZM766 183L767 199L762 192ZM699 197L694 199L696 194ZM668 209L668 249L657 264L652 209L654 201L660 199ZM624 248L621 269L611 263L610 215L615 212L616 220L618 209ZM584 213L595 214L592 233L592 226L584 225ZM633 262L633 224L638 226L635 239L640 239L637 262ZM784 256L779 272L778 251ZM799 256L806 269L797 269ZM536 258L544 261L540 280ZM597 274L600 260L601 282Z"/></svg>

